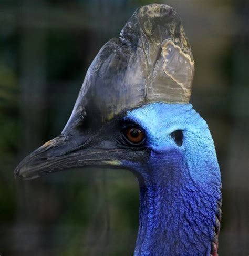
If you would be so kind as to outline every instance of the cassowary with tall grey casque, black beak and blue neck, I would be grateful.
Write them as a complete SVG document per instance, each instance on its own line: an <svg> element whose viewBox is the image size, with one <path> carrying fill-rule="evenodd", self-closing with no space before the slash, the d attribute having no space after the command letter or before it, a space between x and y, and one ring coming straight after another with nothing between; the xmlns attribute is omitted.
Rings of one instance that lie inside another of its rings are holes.
<svg viewBox="0 0 249 256"><path fill-rule="evenodd" d="M209 128L189 104L193 70L174 9L137 9L92 62L64 130L15 174L129 169L140 186L134 255L217 255L221 177Z"/></svg>

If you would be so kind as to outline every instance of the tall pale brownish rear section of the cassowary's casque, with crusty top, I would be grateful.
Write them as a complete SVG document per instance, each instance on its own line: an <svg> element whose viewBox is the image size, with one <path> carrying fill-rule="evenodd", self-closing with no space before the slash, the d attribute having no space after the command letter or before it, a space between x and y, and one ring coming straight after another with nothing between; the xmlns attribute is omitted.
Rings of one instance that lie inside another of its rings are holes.
<svg viewBox="0 0 249 256"><path fill-rule="evenodd" d="M142 6L129 19L121 37L131 44L139 37L137 46L143 50L147 70L147 101L189 102L194 60L181 18L173 8L163 4Z"/></svg>

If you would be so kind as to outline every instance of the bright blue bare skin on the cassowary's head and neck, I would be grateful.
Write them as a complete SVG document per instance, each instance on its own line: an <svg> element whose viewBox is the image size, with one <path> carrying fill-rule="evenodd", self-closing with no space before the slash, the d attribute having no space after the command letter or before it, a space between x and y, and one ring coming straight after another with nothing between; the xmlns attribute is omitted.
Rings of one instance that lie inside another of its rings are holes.
<svg viewBox="0 0 249 256"><path fill-rule="evenodd" d="M134 255L210 255L219 229L221 177L206 122L191 104L165 103L128 111L125 119L143 129L150 151L146 163L123 162L140 183ZM183 133L182 145L171 135L175 130Z"/></svg>

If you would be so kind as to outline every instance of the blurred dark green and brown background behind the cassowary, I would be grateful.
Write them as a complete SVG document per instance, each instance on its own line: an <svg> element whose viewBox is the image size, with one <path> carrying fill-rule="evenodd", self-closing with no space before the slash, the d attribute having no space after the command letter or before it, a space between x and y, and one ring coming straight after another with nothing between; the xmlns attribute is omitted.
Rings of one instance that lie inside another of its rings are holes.
<svg viewBox="0 0 249 256"><path fill-rule="evenodd" d="M86 70L134 10L152 1L0 1L0 254L132 255L139 189L129 171L17 180L18 162L63 129ZM157 1L192 45L191 102L207 120L223 180L220 255L249 253L249 3Z"/></svg>

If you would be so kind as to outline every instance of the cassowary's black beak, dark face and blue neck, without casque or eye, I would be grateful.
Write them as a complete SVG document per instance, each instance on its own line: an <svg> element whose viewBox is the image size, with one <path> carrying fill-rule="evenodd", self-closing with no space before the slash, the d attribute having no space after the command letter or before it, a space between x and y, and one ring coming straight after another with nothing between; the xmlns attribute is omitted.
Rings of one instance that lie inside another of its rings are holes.
<svg viewBox="0 0 249 256"><path fill-rule="evenodd" d="M135 255L217 255L220 171L209 129L192 105L144 105L99 130L87 124L87 116L85 121L25 158L16 175L34 178L89 165L129 169L140 184ZM129 144L127 126L143 131L141 145Z"/></svg>

